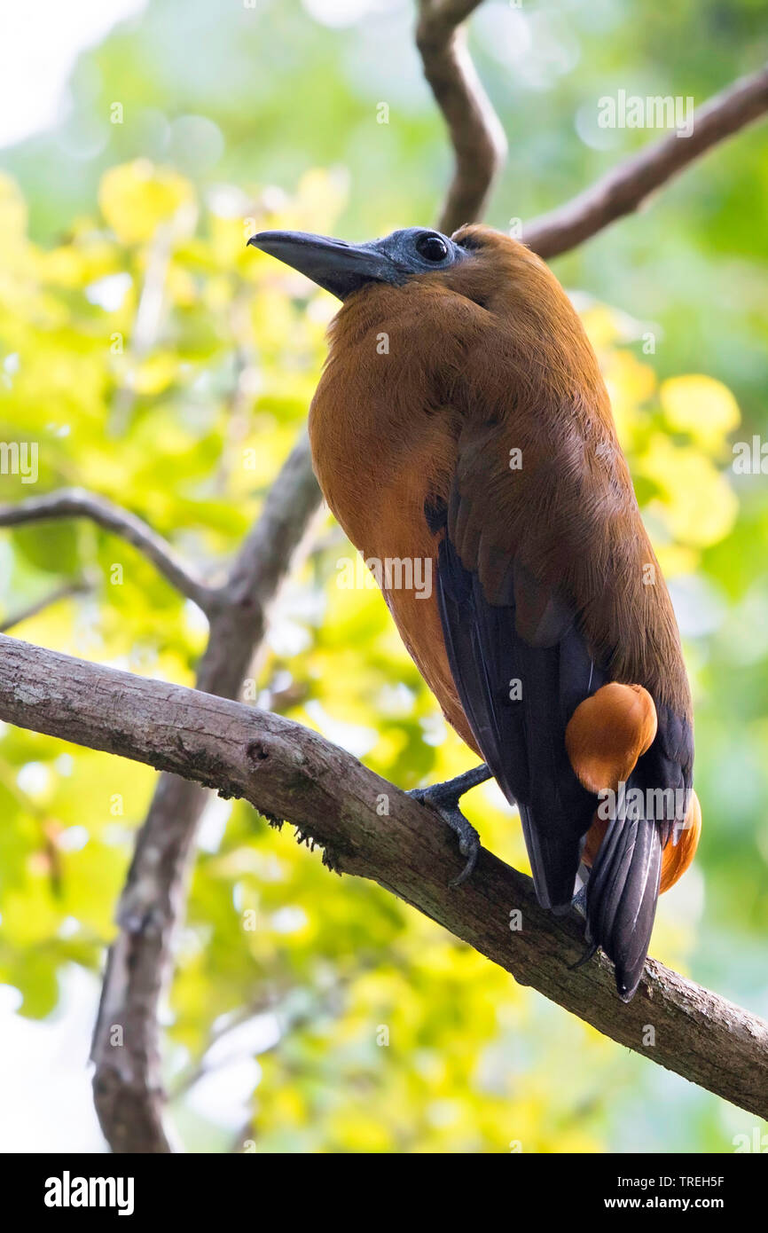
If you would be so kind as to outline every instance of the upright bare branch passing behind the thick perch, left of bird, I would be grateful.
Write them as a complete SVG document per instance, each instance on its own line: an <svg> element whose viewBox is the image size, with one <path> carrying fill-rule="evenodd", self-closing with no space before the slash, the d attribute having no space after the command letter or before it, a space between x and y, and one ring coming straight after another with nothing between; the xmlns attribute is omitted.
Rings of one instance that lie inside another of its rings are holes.
<svg viewBox="0 0 768 1233"><path fill-rule="evenodd" d="M239 695L264 639L270 604L319 504L304 433L226 584L212 594L208 645L197 672L197 687L206 694ZM160 776L117 909L120 933L110 949L92 1044L96 1111L113 1152L174 1149L163 1120L158 1004L173 970L173 936L184 912L207 795L198 783ZM112 1047L116 1023L123 1027L121 1051Z"/></svg>

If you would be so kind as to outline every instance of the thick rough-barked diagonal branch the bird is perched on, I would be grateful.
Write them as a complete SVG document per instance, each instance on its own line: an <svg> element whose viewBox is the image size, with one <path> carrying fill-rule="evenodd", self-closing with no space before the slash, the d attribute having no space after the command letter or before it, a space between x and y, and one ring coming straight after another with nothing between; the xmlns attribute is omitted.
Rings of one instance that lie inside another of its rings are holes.
<svg viewBox="0 0 768 1233"><path fill-rule="evenodd" d="M0 652L0 719L190 776L287 819L339 872L378 882L620 1044L768 1116L768 1023L656 961L624 1005L607 959L573 970L584 944L579 917L544 911L530 878L486 851L472 878L449 888L464 862L438 815L317 732L6 636ZM125 1048L106 1047L120 1068Z"/></svg>

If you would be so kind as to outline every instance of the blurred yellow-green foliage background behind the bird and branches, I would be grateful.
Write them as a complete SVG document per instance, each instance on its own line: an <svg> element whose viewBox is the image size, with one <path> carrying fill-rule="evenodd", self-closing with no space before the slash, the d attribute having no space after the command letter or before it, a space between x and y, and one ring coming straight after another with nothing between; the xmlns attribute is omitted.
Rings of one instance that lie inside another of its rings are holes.
<svg viewBox="0 0 768 1233"><path fill-rule="evenodd" d="M488 221L557 205L657 136L599 129L602 95L700 104L756 68L761 7L484 4L472 48L512 152ZM450 159L412 23L411 4L383 0L150 0L80 55L55 126L2 150L0 436L39 444L37 483L1 475L2 501L94 488L219 576L306 417L335 311L244 240L433 219ZM695 692L704 835L662 899L652 953L763 1015L768 491L733 472L732 444L768 433L764 147L750 129L555 263L603 364ZM406 788L456 773L472 758L378 593L337 586L350 551L322 520L248 697ZM2 533L0 619L73 581L78 593L12 631L192 683L205 618L132 549L84 522ZM92 974L78 989L95 1009L153 783L148 768L2 731L0 981L52 1032L73 970ZM467 811L526 868L496 788ZM165 1015L190 1150L729 1152L752 1134L750 1115L518 988L378 888L329 875L244 805L212 800L200 848ZM63 1051L58 1067L88 1091L83 1057ZM70 1147L89 1134L73 1117Z"/></svg>

